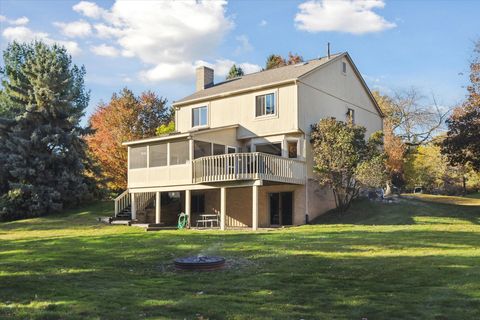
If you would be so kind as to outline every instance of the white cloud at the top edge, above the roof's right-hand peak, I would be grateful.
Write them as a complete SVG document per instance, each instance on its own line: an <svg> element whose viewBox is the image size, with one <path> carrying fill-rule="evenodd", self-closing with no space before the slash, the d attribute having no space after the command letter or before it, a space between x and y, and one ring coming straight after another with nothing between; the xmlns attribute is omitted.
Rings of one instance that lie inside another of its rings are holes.
<svg viewBox="0 0 480 320"><path fill-rule="evenodd" d="M396 27L373 11L384 6L383 0L309 0L298 6L295 25L308 32L379 32Z"/></svg>

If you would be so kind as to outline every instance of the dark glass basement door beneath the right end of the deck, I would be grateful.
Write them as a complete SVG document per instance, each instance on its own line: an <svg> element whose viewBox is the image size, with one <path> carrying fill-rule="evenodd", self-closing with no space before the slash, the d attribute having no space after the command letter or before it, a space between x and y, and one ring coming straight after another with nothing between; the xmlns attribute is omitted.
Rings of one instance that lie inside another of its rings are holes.
<svg viewBox="0 0 480 320"><path fill-rule="evenodd" d="M270 225L293 224L293 192L269 193Z"/></svg>

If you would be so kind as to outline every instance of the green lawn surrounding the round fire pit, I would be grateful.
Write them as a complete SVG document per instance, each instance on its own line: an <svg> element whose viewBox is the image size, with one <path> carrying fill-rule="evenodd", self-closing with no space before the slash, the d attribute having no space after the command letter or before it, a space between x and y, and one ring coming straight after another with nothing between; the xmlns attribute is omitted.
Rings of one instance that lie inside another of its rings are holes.
<svg viewBox="0 0 480 320"><path fill-rule="evenodd" d="M0 319L479 319L480 199L421 200L256 233L97 223L111 203L3 223ZM229 266L172 269L199 253Z"/></svg>

